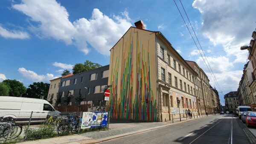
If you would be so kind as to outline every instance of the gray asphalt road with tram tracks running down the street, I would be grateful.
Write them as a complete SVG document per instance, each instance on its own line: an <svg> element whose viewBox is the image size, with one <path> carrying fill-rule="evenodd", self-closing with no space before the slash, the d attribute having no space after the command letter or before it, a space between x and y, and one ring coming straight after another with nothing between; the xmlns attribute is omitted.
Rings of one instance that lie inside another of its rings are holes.
<svg viewBox="0 0 256 144"><path fill-rule="evenodd" d="M232 127L231 127L232 126ZM231 135L232 131L232 135ZM251 138L253 137L253 138ZM104 144L253 144L239 118L214 115L102 142Z"/></svg>

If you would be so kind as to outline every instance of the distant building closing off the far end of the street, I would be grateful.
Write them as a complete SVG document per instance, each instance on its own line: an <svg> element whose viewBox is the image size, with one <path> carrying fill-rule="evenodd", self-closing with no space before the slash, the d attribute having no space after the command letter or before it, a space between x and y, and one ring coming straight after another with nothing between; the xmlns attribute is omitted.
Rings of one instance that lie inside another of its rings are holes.
<svg viewBox="0 0 256 144"><path fill-rule="evenodd" d="M236 92L229 92L224 95L225 106L229 112L236 111L236 108L239 106L239 100Z"/></svg>

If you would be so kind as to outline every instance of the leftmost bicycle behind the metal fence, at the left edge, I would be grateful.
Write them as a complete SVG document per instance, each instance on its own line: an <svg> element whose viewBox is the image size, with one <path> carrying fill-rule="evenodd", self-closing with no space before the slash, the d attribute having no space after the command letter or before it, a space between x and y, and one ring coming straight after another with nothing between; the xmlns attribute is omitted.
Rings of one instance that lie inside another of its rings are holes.
<svg viewBox="0 0 256 144"><path fill-rule="evenodd" d="M0 118L0 138L17 138L22 132L22 126L16 124L13 118Z"/></svg>

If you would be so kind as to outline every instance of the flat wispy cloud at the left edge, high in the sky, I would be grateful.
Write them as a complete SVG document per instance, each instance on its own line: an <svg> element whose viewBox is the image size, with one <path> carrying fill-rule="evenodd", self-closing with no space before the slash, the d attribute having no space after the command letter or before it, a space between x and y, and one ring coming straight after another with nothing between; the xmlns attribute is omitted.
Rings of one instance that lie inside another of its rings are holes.
<svg viewBox="0 0 256 144"><path fill-rule="evenodd" d="M27 32L21 32L21 31L8 31L7 29L4 29L2 26L0 26L0 35L4 38L13 38L13 39L27 39L29 38L29 34Z"/></svg>

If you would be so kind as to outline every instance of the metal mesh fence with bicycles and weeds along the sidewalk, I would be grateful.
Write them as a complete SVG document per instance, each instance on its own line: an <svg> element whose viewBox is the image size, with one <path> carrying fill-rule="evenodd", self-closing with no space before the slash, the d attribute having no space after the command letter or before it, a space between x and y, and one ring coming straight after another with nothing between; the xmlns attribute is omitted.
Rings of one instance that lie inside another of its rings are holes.
<svg viewBox="0 0 256 144"><path fill-rule="evenodd" d="M82 115L83 112L0 112L0 143L108 129L108 126L81 129Z"/></svg>

